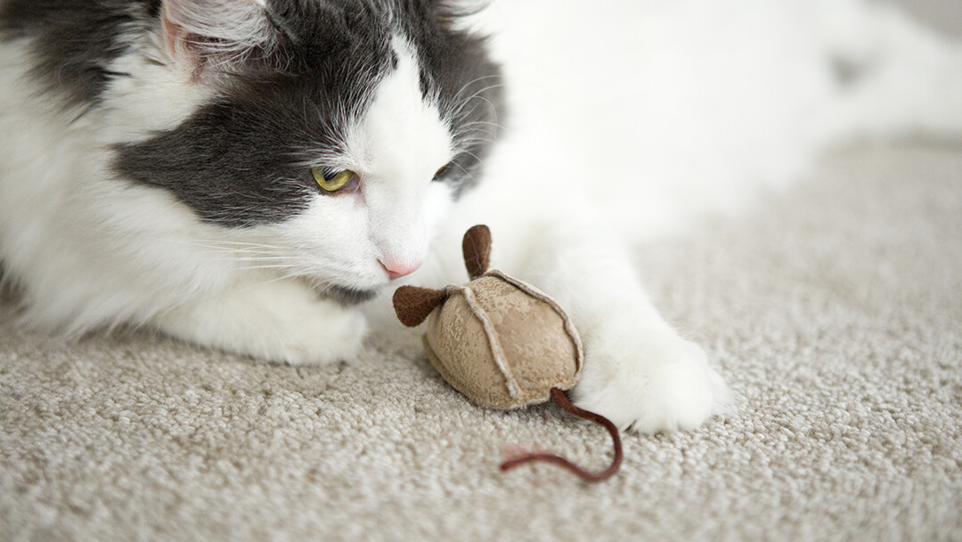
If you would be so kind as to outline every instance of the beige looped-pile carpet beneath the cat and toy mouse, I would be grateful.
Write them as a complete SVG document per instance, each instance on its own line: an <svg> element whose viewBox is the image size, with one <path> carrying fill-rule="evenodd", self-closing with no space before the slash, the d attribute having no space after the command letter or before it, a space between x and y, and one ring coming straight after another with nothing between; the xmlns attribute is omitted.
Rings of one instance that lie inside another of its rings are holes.
<svg viewBox="0 0 962 542"><path fill-rule="evenodd" d="M596 485L499 473L610 440L469 404L417 342L296 369L0 303L0 540L962 540L962 146L840 151L636 254L741 401Z"/></svg>

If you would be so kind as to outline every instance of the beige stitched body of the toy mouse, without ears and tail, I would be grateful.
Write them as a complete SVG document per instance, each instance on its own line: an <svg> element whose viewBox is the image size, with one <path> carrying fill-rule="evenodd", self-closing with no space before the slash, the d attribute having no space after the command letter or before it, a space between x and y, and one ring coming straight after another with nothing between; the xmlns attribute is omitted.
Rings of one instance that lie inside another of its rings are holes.
<svg viewBox="0 0 962 542"><path fill-rule="evenodd" d="M577 383L581 341L550 297L499 271L448 294L428 317L424 345L432 365L470 400L514 409Z"/></svg>

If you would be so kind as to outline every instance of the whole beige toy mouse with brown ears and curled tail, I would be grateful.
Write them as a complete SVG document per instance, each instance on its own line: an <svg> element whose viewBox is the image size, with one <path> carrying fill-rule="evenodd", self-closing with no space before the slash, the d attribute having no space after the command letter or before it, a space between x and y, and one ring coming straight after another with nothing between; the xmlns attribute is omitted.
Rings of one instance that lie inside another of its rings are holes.
<svg viewBox="0 0 962 542"><path fill-rule="evenodd" d="M549 453L529 453L501 465L507 471L547 461L589 480L612 477L621 463L618 427L570 403L564 390L581 375L584 349L565 311L535 287L501 271L489 271L491 232L477 225L465 234L470 282L431 290L402 286L394 311L409 327L427 321L424 348L431 364L452 387L483 406L515 409L554 399L565 410L605 426L615 441L615 459L590 473Z"/></svg>

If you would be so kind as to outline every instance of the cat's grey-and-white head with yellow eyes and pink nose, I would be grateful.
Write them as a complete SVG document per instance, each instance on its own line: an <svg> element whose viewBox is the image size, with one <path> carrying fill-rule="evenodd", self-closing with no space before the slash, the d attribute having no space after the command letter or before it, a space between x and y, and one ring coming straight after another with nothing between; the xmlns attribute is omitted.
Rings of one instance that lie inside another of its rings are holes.
<svg viewBox="0 0 962 542"><path fill-rule="evenodd" d="M368 297L417 269L494 138L497 68L445 6L165 0L145 54L204 98L121 144L115 169L221 228L239 260Z"/></svg>

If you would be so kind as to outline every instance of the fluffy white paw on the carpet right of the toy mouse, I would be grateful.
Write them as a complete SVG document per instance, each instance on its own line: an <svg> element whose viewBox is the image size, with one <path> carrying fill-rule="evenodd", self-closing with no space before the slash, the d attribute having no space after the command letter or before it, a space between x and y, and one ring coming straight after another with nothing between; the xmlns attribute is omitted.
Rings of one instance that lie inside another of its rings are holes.
<svg viewBox="0 0 962 542"><path fill-rule="evenodd" d="M654 433L693 429L729 409L722 376L704 350L673 333L602 334L586 345L575 403L622 429Z"/></svg>

